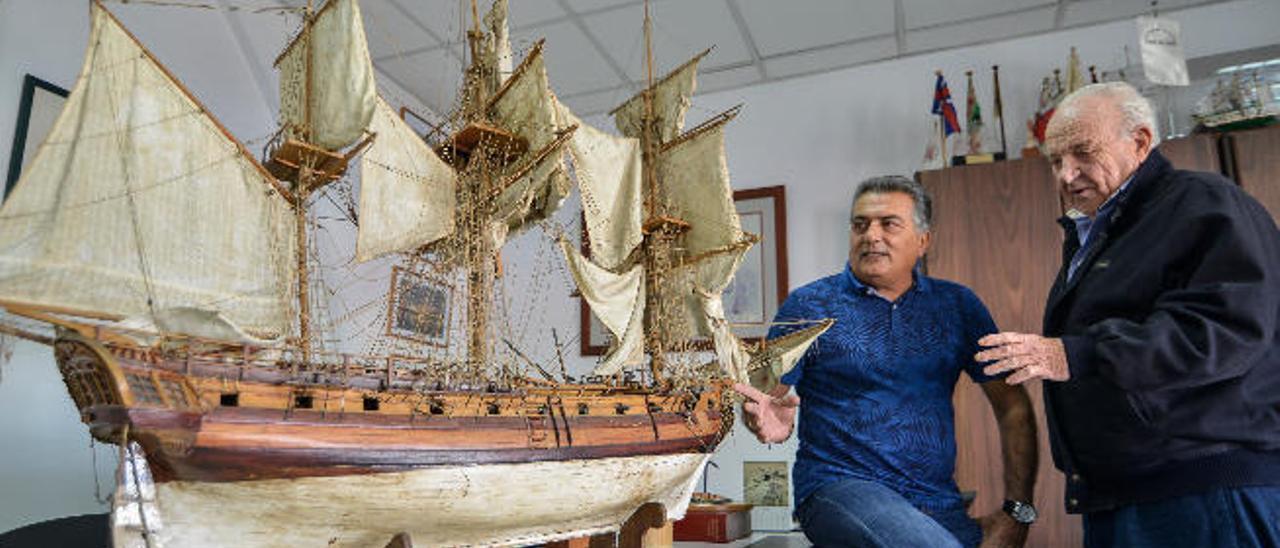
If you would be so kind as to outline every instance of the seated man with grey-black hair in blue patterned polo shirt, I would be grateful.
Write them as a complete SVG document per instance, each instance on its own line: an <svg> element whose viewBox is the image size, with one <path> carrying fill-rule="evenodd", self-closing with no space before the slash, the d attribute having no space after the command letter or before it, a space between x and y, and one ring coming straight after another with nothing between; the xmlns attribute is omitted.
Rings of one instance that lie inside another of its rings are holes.
<svg viewBox="0 0 1280 548"><path fill-rule="evenodd" d="M996 332L978 297L916 271L929 220L919 183L863 182L845 271L792 292L771 335L801 319L836 325L772 393L736 387L749 397L744 421L763 443L787 439L799 410L796 517L820 547L1021 545L1036 519L1030 399L974 361L978 339ZM1004 449L1005 512L980 525L965 513L954 480L951 396L960 371L991 401Z"/></svg>

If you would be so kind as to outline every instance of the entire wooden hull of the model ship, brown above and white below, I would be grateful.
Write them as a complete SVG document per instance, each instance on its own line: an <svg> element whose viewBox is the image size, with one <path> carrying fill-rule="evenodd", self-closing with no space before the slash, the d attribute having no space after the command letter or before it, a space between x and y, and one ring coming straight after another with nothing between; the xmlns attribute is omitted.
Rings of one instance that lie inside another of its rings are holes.
<svg viewBox="0 0 1280 548"><path fill-rule="evenodd" d="M143 448L160 545L509 545L616 531L648 503L678 519L732 421L719 389L339 384L243 350L54 347L91 433Z"/></svg>

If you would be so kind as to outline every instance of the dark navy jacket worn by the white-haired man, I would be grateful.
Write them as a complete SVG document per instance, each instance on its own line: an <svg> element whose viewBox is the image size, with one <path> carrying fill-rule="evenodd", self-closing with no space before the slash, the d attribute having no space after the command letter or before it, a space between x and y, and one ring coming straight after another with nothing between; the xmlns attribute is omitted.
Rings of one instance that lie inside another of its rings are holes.
<svg viewBox="0 0 1280 548"><path fill-rule="evenodd" d="M1160 152L1062 269L1044 335L1071 378L1044 383L1069 512L1220 487L1280 485L1280 232L1230 181Z"/></svg>

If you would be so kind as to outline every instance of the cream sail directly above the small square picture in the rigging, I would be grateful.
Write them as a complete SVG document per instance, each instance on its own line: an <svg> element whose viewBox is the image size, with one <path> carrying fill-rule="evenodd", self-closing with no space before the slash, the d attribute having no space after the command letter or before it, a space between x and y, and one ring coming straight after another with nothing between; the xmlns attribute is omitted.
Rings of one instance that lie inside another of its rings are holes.
<svg viewBox="0 0 1280 548"><path fill-rule="evenodd" d="M356 260L417 248L453 232L456 173L378 99L360 160Z"/></svg>

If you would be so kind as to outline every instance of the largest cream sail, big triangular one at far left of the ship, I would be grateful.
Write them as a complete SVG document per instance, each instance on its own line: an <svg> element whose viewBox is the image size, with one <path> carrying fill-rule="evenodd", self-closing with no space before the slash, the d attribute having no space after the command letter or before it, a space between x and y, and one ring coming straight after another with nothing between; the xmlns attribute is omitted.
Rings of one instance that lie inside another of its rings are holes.
<svg viewBox="0 0 1280 548"><path fill-rule="evenodd" d="M292 330L274 179L96 3L76 87L0 210L0 298Z"/></svg>

